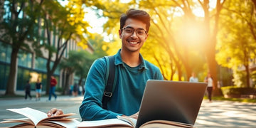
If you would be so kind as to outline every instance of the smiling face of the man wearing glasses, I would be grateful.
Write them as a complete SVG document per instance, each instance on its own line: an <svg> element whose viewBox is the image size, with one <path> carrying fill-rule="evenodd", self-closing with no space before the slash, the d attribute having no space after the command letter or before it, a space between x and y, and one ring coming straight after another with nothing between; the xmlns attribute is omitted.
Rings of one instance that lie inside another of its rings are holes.
<svg viewBox="0 0 256 128"><path fill-rule="evenodd" d="M146 30L146 23L134 18L127 18L123 28L127 27L134 28L134 30ZM144 42L146 41L147 36L148 33L146 33L144 36L137 36L135 31L131 35L130 33L126 33L124 30L119 30L119 38L122 39L122 50L127 52L139 52L140 48L142 48Z"/></svg>

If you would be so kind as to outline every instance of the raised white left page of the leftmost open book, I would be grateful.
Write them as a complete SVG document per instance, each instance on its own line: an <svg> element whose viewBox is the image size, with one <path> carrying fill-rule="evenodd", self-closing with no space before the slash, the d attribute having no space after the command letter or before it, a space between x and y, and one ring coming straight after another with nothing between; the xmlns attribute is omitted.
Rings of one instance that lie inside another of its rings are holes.
<svg viewBox="0 0 256 128"><path fill-rule="evenodd" d="M38 110L33 110L29 107L24 107L21 109L6 109L6 110L16 112L18 114L23 114L25 117L28 117L29 119L31 119L31 121L33 122L33 124L35 126L42 119L45 119L46 117L48 117L46 113L38 111Z"/></svg>

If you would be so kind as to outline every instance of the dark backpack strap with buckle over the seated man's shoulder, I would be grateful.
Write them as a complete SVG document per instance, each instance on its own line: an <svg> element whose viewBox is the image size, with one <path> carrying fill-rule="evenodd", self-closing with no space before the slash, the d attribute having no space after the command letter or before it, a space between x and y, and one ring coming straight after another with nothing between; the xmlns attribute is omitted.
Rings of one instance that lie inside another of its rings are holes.
<svg viewBox="0 0 256 128"><path fill-rule="evenodd" d="M107 56L105 57L107 61L107 72L106 75L107 77L107 84L105 86L105 91L102 97L102 108L107 110L107 102L110 100L112 97L112 90L114 86L114 75L115 75L115 67L114 67L114 55L112 56Z"/></svg>

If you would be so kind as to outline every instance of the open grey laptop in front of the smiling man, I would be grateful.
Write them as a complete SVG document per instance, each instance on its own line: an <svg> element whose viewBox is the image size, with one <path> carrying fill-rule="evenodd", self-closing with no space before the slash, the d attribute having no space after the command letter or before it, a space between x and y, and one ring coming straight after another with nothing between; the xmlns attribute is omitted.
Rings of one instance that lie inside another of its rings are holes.
<svg viewBox="0 0 256 128"><path fill-rule="evenodd" d="M136 127L156 119L194 125L206 87L206 82L148 80Z"/></svg>

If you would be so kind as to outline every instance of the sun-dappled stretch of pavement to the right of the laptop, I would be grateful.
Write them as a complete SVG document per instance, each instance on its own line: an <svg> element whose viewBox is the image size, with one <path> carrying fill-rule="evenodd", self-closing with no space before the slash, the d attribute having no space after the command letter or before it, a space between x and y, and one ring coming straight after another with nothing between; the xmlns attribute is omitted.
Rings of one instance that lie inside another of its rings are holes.
<svg viewBox="0 0 256 128"><path fill-rule="evenodd" d="M203 101L197 127L256 127L256 103Z"/></svg>

